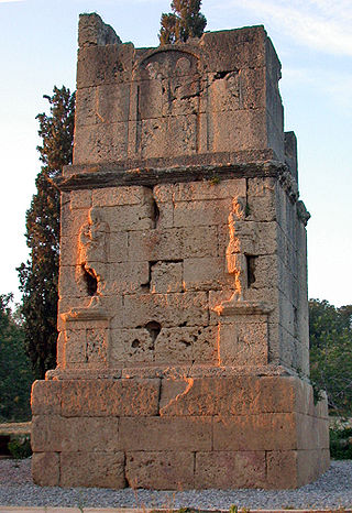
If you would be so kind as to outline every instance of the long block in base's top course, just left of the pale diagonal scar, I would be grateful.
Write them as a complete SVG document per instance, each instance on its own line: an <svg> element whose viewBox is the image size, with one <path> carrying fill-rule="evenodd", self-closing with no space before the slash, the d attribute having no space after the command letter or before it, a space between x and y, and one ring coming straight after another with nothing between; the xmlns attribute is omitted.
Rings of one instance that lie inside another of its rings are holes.
<svg viewBox="0 0 352 513"><path fill-rule="evenodd" d="M78 380L62 385L62 415L150 416L158 411L160 380Z"/></svg>

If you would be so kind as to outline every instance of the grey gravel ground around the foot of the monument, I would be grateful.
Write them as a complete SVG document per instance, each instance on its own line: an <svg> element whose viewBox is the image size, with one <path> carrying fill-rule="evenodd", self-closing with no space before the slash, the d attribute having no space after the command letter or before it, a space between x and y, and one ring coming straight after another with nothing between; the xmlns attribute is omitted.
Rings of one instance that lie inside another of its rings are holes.
<svg viewBox="0 0 352 513"><path fill-rule="evenodd" d="M298 490L204 490L156 492L98 488L41 488L31 479L31 460L0 460L0 504L6 506L351 509L352 460L333 461L318 481Z"/></svg>

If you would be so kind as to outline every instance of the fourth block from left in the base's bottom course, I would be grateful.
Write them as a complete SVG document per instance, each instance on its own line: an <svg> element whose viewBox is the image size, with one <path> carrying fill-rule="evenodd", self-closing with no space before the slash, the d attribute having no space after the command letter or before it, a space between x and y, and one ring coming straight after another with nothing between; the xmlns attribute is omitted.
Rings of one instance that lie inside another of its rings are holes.
<svg viewBox="0 0 352 513"><path fill-rule="evenodd" d="M196 452L195 488L264 488L265 451Z"/></svg>

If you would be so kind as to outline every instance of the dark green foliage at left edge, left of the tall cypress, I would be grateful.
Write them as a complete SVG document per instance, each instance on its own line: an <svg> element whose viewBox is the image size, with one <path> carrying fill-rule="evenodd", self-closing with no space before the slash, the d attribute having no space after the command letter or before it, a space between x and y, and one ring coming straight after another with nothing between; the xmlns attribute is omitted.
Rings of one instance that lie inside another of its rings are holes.
<svg viewBox="0 0 352 513"><path fill-rule="evenodd" d="M0 295L0 421L28 421L33 374L24 350L24 332L9 304Z"/></svg>

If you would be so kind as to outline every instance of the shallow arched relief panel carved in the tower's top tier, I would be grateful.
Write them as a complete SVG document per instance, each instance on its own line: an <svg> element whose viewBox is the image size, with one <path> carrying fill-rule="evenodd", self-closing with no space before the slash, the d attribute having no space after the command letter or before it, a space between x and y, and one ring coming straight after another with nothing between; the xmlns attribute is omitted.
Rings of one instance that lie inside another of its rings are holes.
<svg viewBox="0 0 352 513"><path fill-rule="evenodd" d="M197 57L161 51L135 68L134 78L136 154L152 157L196 153L202 110Z"/></svg>

